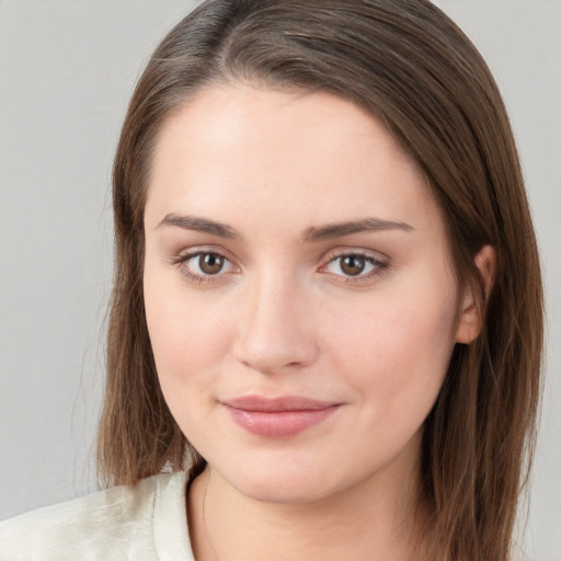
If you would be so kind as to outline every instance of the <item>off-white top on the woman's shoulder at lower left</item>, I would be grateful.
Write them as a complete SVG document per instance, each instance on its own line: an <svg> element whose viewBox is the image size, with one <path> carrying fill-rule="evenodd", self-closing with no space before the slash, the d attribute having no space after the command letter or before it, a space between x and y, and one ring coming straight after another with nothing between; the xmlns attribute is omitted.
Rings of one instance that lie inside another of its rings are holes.
<svg viewBox="0 0 561 561"><path fill-rule="evenodd" d="M186 473L154 476L0 524L0 561L195 561Z"/></svg>

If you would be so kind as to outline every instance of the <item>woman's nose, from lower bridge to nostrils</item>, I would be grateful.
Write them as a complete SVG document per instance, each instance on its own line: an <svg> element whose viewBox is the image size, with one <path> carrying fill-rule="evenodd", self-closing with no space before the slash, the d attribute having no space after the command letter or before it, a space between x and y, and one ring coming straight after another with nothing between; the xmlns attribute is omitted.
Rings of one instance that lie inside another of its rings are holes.
<svg viewBox="0 0 561 561"><path fill-rule="evenodd" d="M262 278L239 302L234 357L262 374L295 370L318 354L310 298L294 279Z"/></svg>

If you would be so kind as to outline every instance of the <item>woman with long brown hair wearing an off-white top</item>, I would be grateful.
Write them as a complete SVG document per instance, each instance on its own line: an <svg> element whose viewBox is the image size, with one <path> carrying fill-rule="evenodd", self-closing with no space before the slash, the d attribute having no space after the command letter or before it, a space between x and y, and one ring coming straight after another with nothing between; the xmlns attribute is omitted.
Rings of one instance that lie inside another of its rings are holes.
<svg viewBox="0 0 561 561"><path fill-rule="evenodd" d="M508 559L539 262L442 12L205 2L140 78L114 209L111 489L7 523L7 559Z"/></svg>

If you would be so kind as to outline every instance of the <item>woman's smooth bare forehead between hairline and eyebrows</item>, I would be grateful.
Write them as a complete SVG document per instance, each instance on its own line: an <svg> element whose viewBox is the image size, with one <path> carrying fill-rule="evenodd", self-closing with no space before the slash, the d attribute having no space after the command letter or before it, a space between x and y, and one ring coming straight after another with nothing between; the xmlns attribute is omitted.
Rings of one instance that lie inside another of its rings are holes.
<svg viewBox="0 0 561 561"><path fill-rule="evenodd" d="M146 215L178 211L301 228L439 218L415 162L369 113L329 93L241 84L204 90L164 122Z"/></svg>

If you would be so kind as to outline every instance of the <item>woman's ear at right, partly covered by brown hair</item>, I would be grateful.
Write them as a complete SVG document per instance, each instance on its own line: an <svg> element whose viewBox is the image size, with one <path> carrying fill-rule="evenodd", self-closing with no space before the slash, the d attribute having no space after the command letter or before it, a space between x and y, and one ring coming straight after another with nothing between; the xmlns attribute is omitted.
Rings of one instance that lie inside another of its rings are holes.
<svg viewBox="0 0 561 561"><path fill-rule="evenodd" d="M485 297L493 288L496 253L491 245L483 245L474 257L476 266L483 279ZM476 295L471 286L466 287L463 298L459 310L458 329L456 331L456 342L469 344L473 342L483 327L481 310L477 305Z"/></svg>

